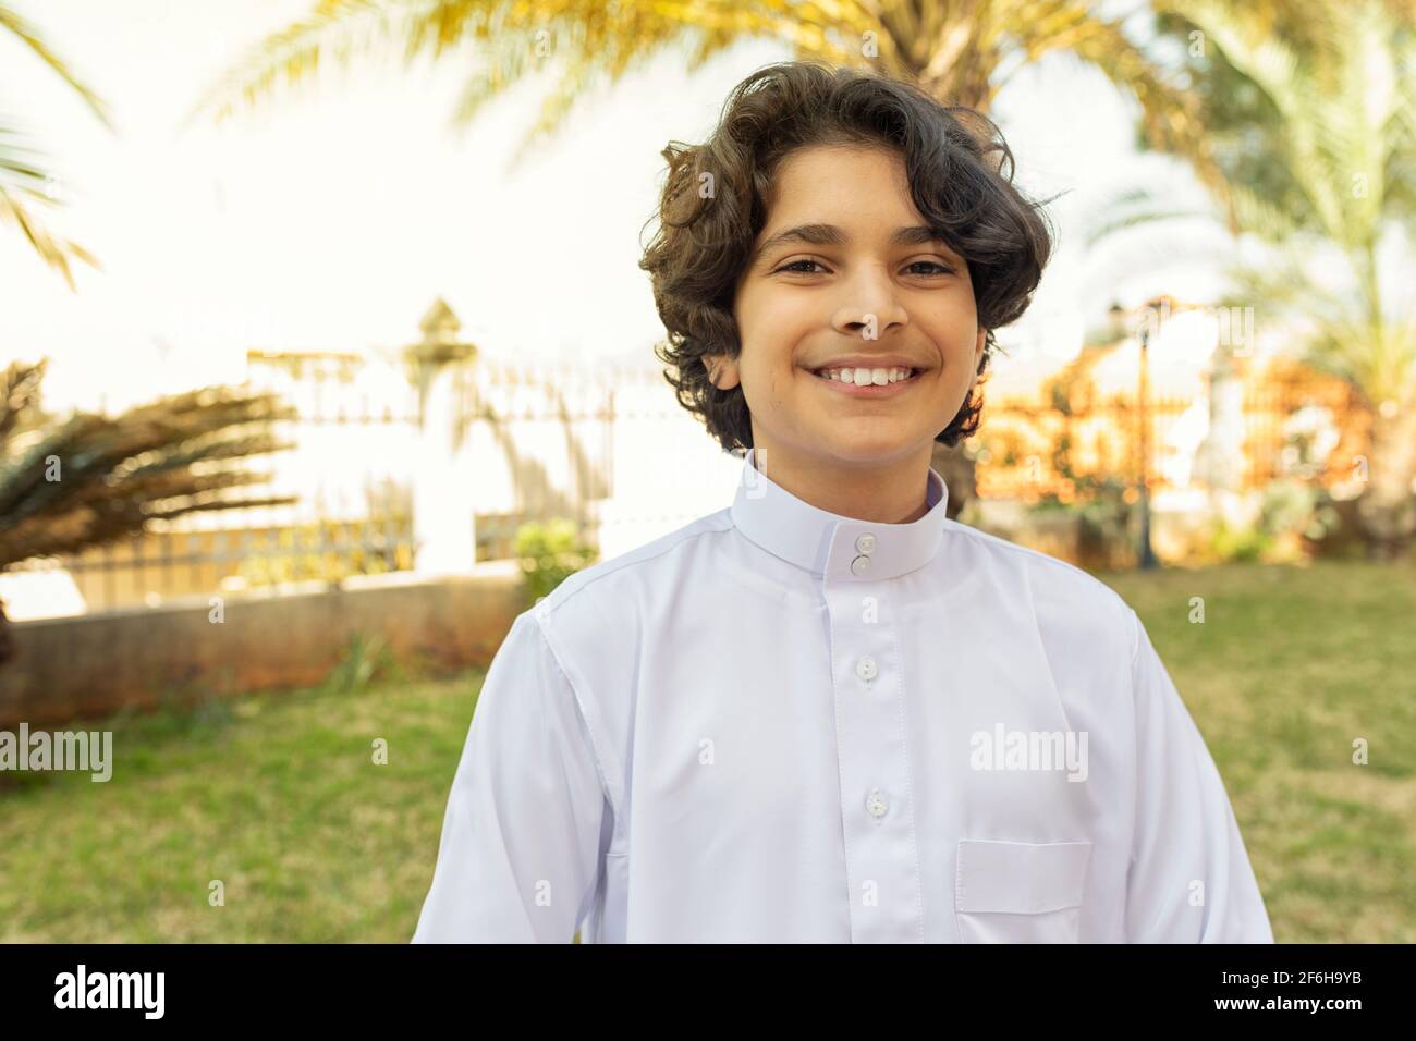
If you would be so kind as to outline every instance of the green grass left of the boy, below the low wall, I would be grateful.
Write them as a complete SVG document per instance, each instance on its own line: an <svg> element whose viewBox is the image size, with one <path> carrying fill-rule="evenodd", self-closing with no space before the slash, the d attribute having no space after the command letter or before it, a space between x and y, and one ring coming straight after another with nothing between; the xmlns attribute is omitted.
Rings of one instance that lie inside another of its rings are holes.
<svg viewBox="0 0 1416 1041"><path fill-rule="evenodd" d="M113 778L8 775L0 940L406 942L479 686L302 690L67 727L113 729Z"/></svg>

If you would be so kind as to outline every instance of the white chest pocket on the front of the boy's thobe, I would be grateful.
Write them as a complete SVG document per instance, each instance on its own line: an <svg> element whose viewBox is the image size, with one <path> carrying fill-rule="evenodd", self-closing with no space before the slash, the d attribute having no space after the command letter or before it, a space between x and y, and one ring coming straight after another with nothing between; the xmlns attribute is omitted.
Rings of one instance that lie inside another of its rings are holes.
<svg viewBox="0 0 1416 1041"><path fill-rule="evenodd" d="M1076 943L1092 843L960 838L960 943Z"/></svg>

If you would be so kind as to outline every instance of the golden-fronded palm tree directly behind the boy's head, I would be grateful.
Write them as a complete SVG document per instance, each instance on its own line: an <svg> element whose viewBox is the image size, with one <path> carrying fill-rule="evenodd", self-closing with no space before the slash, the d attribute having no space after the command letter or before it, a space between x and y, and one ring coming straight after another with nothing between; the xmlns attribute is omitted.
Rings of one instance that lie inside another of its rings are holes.
<svg viewBox="0 0 1416 1041"><path fill-rule="evenodd" d="M217 122L239 105L295 85L333 58L348 65L401 44L405 62L460 54L477 67L453 112L464 126L527 72L559 59L561 79L515 159L552 135L576 98L616 82L670 47L691 47L687 71L749 37L787 44L801 61L874 68L920 84L946 103L987 112L1024 65L1068 51L1095 65L1140 103L1151 147L1184 156L1216 198L1228 181L1211 156L1198 98L1170 81L1119 18L1093 0L314 0L307 17L258 42L218 76L188 122ZM1233 215L1229 215L1231 227ZM971 497L974 465L964 445L936 446L935 465L950 484L954 517Z"/></svg>

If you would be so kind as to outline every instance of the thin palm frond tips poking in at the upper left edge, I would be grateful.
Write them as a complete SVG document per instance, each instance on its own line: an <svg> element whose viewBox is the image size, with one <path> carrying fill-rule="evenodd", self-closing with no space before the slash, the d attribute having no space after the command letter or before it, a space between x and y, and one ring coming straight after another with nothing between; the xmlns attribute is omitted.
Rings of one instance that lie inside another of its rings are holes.
<svg viewBox="0 0 1416 1041"><path fill-rule="evenodd" d="M6 4L0 4L0 30L13 33L25 47L78 92L84 103L109 130L108 106L69 71L68 65L44 42L40 31ZM58 269L69 289L75 289L69 259L84 261L92 268L99 262L78 242L58 239L45 231L30 205L54 205L54 176L44 167L35 149L21 144L17 129L0 116L0 222L13 221L45 263Z"/></svg>

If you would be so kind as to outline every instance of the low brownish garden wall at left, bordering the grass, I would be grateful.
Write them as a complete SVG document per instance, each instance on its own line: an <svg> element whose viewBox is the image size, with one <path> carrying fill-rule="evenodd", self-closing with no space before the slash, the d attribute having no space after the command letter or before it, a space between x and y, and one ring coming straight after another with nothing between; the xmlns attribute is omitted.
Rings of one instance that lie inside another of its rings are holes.
<svg viewBox="0 0 1416 1041"><path fill-rule="evenodd" d="M0 728L316 684L358 635L381 637L401 661L486 666L523 609L515 561L497 561L469 575L395 572L219 605L202 598L17 622L16 657L0 669Z"/></svg>

